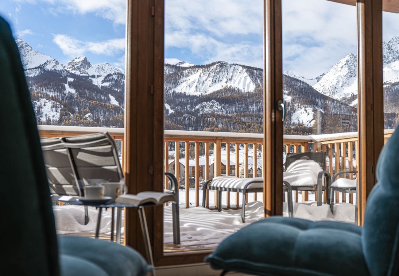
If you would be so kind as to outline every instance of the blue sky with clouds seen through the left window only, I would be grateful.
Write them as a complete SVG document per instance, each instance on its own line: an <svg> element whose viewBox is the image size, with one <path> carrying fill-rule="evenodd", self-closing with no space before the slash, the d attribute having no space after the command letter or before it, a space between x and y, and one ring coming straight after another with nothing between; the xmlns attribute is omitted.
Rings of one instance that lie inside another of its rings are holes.
<svg viewBox="0 0 399 276"><path fill-rule="evenodd" d="M92 64L108 62L124 68L124 0L113 0L114 7L102 0L1 2L0 14L10 23L14 37L37 51L63 64L86 55Z"/></svg>

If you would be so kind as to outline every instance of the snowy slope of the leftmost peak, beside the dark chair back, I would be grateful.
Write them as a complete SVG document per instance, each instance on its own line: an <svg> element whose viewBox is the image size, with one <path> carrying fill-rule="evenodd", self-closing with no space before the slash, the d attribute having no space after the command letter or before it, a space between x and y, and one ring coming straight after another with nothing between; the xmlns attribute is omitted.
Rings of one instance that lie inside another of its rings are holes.
<svg viewBox="0 0 399 276"><path fill-rule="evenodd" d="M22 65L24 69L34 69L40 67L45 70L63 70L63 67L57 59L53 59L49 55L43 55L39 51L33 49L28 43L23 41L22 39L16 39L18 49L20 51ZM35 75L38 73L38 70L33 70L30 73Z"/></svg>

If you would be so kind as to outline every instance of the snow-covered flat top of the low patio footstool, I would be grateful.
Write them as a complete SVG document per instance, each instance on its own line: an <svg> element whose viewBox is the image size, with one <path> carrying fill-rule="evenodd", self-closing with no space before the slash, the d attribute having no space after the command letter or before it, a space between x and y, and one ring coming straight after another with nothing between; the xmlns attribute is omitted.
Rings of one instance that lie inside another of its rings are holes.
<svg viewBox="0 0 399 276"><path fill-rule="evenodd" d="M255 183L249 184L247 189L262 189L263 188L263 177L248 177L238 178L230 175L217 176L212 179L210 184L211 187L223 187L232 189L244 189L245 185L255 181Z"/></svg>

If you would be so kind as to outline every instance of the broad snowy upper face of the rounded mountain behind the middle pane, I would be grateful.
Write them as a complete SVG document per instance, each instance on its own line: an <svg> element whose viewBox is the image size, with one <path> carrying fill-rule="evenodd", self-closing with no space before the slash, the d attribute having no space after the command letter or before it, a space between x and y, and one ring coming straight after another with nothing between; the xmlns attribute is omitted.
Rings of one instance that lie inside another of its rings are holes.
<svg viewBox="0 0 399 276"><path fill-rule="evenodd" d="M259 76L255 76L260 74ZM254 91L261 85L262 69L244 65L230 64L224 61L207 65L182 66L165 65L165 79L174 78L175 81L165 87L167 92L176 91L189 95L203 95L214 91L233 87L242 92Z"/></svg>

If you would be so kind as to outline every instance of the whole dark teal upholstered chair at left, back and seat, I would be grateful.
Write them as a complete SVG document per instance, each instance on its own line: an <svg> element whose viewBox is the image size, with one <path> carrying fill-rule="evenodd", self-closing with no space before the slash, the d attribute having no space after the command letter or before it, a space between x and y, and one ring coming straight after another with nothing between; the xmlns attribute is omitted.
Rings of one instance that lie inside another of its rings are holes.
<svg viewBox="0 0 399 276"><path fill-rule="evenodd" d="M144 276L151 270L128 246L55 233L49 184L24 69L0 17L0 223L2 275Z"/></svg>

